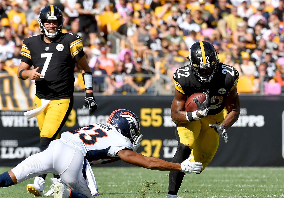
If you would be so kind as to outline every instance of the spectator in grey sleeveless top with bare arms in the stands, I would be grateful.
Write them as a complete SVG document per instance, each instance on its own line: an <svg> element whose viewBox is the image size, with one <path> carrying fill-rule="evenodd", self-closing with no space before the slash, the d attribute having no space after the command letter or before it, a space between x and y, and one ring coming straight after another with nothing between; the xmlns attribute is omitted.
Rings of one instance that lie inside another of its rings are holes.
<svg viewBox="0 0 284 198"><path fill-rule="evenodd" d="M149 38L149 32L145 28L145 26L145 19L141 18L139 20L139 27L137 28L134 34L134 44L137 47L137 53L140 57L143 56L143 51L148 49L147 46L144 45L145 39Z"/></svg>

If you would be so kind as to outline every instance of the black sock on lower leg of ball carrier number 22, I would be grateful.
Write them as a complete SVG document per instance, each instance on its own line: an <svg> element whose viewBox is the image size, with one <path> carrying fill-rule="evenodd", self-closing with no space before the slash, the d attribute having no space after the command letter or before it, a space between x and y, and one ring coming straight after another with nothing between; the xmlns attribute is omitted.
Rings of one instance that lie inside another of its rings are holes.
<svg viewBox="0 0 284 198"><path fill-rule="evenodd" d="M191 149L188 146L185 146L184 144L179 143L178 149L176 151L175 156L172 159L172 162L175 163L182 163L184 160L186 160L191 153ZM170 177L169 177L169 195L177 195L178 190L181 186L181 182L183 180L183 176L185 173L183 172L176 172L176 171L170 171Z"/></svg>

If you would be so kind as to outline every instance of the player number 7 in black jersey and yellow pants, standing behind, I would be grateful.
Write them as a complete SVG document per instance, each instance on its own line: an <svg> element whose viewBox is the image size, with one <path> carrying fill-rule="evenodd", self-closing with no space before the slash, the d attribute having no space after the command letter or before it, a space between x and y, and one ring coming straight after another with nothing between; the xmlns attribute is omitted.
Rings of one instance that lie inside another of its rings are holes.
<svg viewBox="0 0 284 198"><path fill-rule="evenodd" d="M59 8L48 5L39 15L39 29L43 33L26 38L22 44L22 60L18 68L20 79L36 81L35 108L41 102L50 100L43 113L37 115L40 130L41 150L59 138L59 131L64 126L73 107L74 66L82 68L86 97L83 108L93 114L97 104L93 96L91 69L83 52L82 38L72 33L61 33L64 18ZM30 69L34 66L34 69ZM27 190L36 196L43 195L45 175L36 177L34 184L28 184ZM59 176L52 178L56 183ZM51 195L50 191L46 195Z"/></svg>

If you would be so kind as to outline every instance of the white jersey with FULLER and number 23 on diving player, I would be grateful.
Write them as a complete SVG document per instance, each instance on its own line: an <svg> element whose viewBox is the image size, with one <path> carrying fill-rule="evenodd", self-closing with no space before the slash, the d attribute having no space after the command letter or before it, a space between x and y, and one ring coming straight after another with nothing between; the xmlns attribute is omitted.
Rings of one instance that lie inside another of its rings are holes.
<svg viewBox="0 0 284 198"><path fill-rule="evenodd" d="M95 123L74 131L66 131L61 134L61 139L81 150L90 164L99 164L118 157L118 151L123 149L133 150L130 139L108 123Z"/></svg>

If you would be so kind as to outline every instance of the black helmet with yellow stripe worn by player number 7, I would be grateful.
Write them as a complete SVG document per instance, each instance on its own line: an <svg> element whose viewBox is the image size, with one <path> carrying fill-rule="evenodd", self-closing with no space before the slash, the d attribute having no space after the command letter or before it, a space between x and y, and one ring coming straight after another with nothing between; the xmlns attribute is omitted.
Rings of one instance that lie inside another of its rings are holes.
<svg viewBox="0 0 284 198"><path fill-rule="evenodd" d="M45 21L58 21L57 31L55 33L48 32L44 27ZM55 5L48 5L47 7L43 8L39 14L38 18L39 29L47 37L54 38L55 36L58 35L59 32L62 31L63 21L64 18L61 10Z"/></svg>

